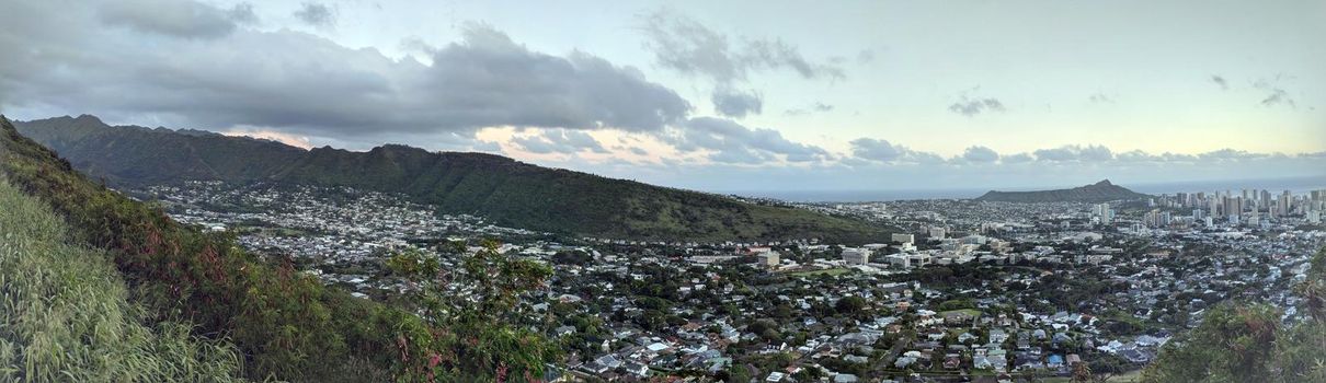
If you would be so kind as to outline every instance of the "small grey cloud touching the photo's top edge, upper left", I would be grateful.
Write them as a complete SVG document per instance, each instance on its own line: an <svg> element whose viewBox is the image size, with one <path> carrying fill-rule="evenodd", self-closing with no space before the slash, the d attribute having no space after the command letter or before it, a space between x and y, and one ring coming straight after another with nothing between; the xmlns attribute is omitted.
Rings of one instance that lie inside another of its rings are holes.
<svg viewBox="0 0 1326 383"><path fill-rule="evenodd" d="M248 3L227 11L194 1L125 0L105 3L98 11L106 25L183 38L217 38L233 32L236 24L257 20Z"/></svg>

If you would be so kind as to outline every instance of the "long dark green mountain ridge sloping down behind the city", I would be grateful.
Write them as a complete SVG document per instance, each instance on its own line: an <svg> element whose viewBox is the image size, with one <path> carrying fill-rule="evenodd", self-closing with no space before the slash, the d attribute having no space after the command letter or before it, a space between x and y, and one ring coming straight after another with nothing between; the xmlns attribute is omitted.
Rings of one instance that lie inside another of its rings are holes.
<svg viewBox="0 0 1326 383"><path fill-rule="evenodd" d="M95 117L16 123L77 170L113 186L256 180L400 192L500 225L640 240L879 240L882 228L805 209L743 203L505 156L387 144L367 152L199 131L107 126Z"/></svg>

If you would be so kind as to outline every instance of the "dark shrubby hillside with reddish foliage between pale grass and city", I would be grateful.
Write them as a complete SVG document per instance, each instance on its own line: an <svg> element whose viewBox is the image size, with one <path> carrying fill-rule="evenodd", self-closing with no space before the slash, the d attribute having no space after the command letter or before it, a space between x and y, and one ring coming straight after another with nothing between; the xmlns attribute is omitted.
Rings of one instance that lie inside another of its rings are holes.
<svg viewBox="0 0 1326 383"><path fill-rule="evenodd" d="M133 301L149 313L147 323L187 321L194 335L231 341L247 378L481 379L499 364L540 376L542 364L528 360L544 355L493 346L507 339L487 334L509 333L504 323L457 335L404 310L324 288L288 261L259 260L232 237L182 227L158 208L90 182L3 117L0 175L62 216L78 241L106 250Z"/></svg>

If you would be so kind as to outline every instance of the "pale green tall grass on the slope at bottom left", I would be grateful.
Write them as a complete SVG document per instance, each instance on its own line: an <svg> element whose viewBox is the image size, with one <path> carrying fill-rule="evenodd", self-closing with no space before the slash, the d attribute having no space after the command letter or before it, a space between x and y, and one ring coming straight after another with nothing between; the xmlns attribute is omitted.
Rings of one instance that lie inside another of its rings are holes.
<svg viewBox="0 0 1326 383"><path fill-rule="evenodd" d="M232 382L240 355L179 322L143 325L101 250L0 178L0 382Z"/></svg>

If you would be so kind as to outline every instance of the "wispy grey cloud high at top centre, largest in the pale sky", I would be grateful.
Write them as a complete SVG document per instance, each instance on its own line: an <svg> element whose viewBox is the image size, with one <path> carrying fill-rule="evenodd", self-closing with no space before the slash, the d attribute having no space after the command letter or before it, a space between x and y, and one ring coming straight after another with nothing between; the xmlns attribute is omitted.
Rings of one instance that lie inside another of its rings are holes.
<svg viewBox="0 0 1326 383"><path fill-rule="evenodd" d="M842 68L813 62L782 40L732 38L699 21L668 11L640 17L655 61L683 74L701 76L716 83L745 81L756 70L792 70L804 78L845 78ZM733 41L737 40L737 41Z"/></svg>

